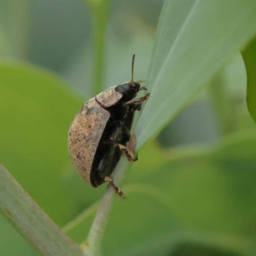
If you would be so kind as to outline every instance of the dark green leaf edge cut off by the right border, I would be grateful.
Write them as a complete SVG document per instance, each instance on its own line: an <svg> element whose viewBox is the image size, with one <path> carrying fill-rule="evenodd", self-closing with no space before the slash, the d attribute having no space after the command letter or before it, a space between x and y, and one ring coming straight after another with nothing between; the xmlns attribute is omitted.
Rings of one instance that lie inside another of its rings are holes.
<svg viewBox="0 0 256 256"><path fill-rule="evenodd" d="M256 122L256 38L242 51L247 68L247 108Z"/></svg>

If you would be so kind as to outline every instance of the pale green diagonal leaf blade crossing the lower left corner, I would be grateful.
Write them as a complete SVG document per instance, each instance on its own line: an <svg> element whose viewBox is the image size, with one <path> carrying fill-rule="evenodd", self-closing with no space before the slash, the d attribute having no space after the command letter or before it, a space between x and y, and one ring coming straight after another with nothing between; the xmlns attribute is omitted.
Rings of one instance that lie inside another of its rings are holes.
<svg viewBox="0 0 256 256"><path fill-rule="evenodd" d="M43 255L84 255L3 166L0 177L0 210L33 247Z"/></svg>

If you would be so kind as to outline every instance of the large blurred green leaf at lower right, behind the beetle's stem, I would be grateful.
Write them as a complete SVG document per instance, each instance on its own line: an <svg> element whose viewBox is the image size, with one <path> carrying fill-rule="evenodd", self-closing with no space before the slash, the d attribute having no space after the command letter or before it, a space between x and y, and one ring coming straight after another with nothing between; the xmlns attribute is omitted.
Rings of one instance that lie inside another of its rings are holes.
<svg viewBox="0 0 256 256"><path fill-rule="evenodd" d="M115 198L104 255L180 255L188 247L212 255L253 255L255 148L254 131L213 148L168 152L147 144L122 188L127 198ZM162 164L154 165L158 159ZM67 234L82 241L95 211L92 206L84 212Z"/></svg>

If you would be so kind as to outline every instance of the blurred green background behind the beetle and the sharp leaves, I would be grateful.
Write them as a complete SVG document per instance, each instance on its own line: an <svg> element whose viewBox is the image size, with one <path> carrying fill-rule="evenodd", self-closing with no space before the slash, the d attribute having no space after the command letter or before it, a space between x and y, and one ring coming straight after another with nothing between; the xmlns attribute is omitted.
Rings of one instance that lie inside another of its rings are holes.
<svg viewBox="0 0 256 256"><path fill-rule="evenodd" d="M0 0L0 161L79 243L106 189L84 183L67 154L69 124L96 92L94 30L105 18L93 2ZM163 1L106 3L104 88L131 79L132 54L135 79L147 79ZM256 135L246 85L237 52L143 147L125 179L127 200L116 196L103 255L255 255ZM3 217L0 255L37 255Z"/></svg>

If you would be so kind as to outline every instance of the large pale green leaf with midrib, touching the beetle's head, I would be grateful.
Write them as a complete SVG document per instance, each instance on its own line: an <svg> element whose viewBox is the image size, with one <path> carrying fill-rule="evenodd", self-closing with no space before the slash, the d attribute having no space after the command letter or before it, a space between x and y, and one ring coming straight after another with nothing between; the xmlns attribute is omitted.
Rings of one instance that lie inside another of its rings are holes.
<svg viewBox="0 0 256 256"><path fill-rule="evenodd" d="M148 73L151 96L136 127L138 148L253 37L255 12L254 0L165 1Z"/></svg>

